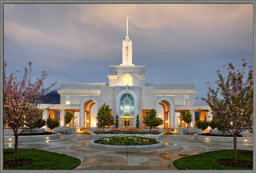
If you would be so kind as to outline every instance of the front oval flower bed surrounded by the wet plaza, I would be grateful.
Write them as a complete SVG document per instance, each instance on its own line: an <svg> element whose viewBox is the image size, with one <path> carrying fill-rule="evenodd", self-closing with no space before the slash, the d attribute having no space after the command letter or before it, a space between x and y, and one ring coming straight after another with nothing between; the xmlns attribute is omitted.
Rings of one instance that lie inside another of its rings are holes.
<svg viewBox="0 0 256 173"><path fill-rule="evenodd" d="M152 145L158 144L154 138L144 136L111 136L101 137L94 141L98 144L104 145L120 145L120 146L133 146L133 145Z"/></svg>

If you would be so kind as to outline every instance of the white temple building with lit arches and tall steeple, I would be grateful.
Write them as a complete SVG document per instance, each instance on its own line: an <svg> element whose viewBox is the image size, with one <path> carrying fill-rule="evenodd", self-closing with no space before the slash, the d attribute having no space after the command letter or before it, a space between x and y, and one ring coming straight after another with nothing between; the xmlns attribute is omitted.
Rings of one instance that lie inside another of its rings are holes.
<svg viewBox="0 0 256 173"><path fill-rule="evenodd" d="M140 128L142 116L152 108L157 116L163 118L161 128L174 129L185 127L180 113L190 111L193 128L195 121L211 120L211 110L208 105L195 105L194 83L146 83L146 66L132 63L132 41L127 33L122 41L122 63L119 66L109 66L109 83L61 83L58 91L61 96L60 105L41 105L50 107L43 112L43 118L51 115L60 118L60 126L66 127L65 113L71 112L75 118L70 127L94 128L98 109L105 103L111 108L114 118L119 119L119 127L135 127L136 116L139 115ZM102 74L104 75L104 74ZM168 81L164 81L168 82Z"/></svg>

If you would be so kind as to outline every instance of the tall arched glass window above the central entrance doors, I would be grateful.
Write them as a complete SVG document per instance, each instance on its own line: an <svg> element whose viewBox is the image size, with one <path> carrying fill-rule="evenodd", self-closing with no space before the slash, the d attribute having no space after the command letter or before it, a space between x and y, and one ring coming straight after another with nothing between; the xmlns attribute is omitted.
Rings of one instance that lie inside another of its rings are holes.
<svg viewBox="0 0 256 173"><path fill-rule="evenodd" d="M120 100L120 127L134 127L134 98L128 94Z"/></svg>

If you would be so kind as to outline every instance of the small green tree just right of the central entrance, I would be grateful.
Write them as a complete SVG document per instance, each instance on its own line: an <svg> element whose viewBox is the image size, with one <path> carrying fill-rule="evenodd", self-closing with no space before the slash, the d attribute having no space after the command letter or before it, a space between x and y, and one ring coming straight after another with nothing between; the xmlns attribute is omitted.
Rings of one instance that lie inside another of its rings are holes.
<svg viewBox="0 0 256 173"><path fill-rule="evenodd" d="M146 112L146 116L143 117L143 123L145 123L145 126L150 128L160 126L164 123L164 120L162 118L156 117L156 111L154 109L151 109L149 112Z"/></svg>

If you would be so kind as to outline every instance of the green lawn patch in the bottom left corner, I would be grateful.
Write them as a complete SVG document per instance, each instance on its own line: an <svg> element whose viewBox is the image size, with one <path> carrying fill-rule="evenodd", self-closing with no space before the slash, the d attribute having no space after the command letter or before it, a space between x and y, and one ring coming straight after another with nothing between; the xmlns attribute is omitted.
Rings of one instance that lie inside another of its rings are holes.
<svg viewBox="0 0 256 173"><path fill-rule="evenodd" d="M11 155L4 155L4 162L14 160L14 149L4 149L4 152L13 152ZM81 164L81 161L76 157L37 149L18 149L18 160L29 160L32 161L32 163L26 166L12 167L8 169L71 170Z"/></svg>

